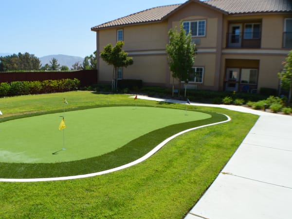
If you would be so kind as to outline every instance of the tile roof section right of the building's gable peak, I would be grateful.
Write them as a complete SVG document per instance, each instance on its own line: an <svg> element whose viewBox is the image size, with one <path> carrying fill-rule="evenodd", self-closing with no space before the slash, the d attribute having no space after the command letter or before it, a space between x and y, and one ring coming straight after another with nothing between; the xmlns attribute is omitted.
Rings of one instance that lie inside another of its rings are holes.
<svg viewBox="0 0 292 219"><path fill-rule="evenodd" d="M204 3L228 14L292 12L292 0L207 0Z"/></svg>

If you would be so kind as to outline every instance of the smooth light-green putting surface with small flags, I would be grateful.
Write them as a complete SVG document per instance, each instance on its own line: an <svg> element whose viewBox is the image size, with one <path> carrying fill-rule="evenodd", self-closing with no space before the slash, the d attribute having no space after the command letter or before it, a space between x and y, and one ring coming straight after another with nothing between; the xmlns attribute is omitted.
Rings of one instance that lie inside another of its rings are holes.
<svg viewBox="0 0 292 219"><path fill-rule="evenodd" d="M0 123L0 162L59 163L96 157L169 125L208 119L196 111L155 107L106 107ZM65 148L63 148L63 134ZM55 154L53 154L56 152Z"/></svg>

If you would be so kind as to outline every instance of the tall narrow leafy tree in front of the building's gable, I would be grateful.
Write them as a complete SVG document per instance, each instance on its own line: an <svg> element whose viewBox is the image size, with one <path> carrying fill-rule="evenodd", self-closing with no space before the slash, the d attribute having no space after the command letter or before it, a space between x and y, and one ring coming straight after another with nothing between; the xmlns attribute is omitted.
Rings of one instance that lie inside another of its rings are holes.
<svg viewBox="0 0 292 219"><path fill-rule="evenodd" d="M179 81L179 95L181 83L187 83L193 72L195 62L196 45L192 43L191 34L186 35L181 22L180 32L177 27L175 30L169 30L169 44L166 45L168 55L169 69L172 72L172 77Z"/></svg>

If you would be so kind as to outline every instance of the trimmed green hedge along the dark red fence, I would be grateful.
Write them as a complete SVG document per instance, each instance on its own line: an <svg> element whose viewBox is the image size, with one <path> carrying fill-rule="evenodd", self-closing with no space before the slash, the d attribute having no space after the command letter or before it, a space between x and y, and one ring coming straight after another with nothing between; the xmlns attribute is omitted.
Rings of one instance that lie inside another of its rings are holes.
<svg viewBox="0 0 292 219"><path fill-rule="evenodd" d="M45 81L12 81L0 83L0 97L17 96L39 93L54 93L74 91L80 86L80 81L74 79L45 80Z"/></svg>

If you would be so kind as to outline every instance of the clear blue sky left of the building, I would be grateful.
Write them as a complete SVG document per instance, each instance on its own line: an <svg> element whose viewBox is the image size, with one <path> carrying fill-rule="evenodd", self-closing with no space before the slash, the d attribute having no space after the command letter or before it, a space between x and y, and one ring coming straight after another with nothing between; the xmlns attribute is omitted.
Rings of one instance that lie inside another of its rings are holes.
<svg viewBox="0 0 292 219"><path fill-rule="evenodd" d="M0 53L74 55L95 50L91 27L186 0L1 0Z"/></svg>

